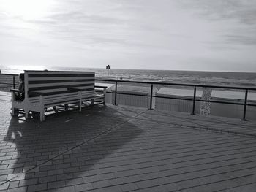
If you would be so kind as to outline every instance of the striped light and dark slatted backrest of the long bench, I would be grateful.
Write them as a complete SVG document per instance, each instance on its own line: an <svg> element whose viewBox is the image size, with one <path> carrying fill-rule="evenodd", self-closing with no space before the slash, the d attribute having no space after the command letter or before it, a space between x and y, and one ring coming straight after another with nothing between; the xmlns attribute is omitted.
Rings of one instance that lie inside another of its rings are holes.
<svg viewBox="0 0 256 192"><path fill-rule="evenodd" d="M68 88L94 91L95 72L25 71L25 98L34 97L31 91L45 95L69 93Z"/></svg>

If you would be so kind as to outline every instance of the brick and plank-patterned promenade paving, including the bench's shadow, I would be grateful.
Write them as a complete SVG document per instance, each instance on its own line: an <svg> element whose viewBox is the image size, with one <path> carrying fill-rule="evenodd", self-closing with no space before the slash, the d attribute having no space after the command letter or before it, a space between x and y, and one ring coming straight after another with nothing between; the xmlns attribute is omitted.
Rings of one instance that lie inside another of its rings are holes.
<svg viewBox="0 0 256 192"><path fill-rule="evenodd" d="M107 105L38 119L0 101L0 191L256 191L256 123Z"/></svg>

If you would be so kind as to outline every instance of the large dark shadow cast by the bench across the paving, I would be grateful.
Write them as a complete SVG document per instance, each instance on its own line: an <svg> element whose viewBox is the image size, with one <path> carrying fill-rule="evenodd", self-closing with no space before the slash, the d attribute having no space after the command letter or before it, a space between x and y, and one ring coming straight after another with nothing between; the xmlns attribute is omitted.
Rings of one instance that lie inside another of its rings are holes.
<svg viewBox="0 0 256 192"><path fill-rule="evenodd" d="M129 121L139 113L97 106L49 115L42 123L12 118L4 140L16 145L17 155L7 181L18 181L20 191L54 191L100 180L108 174L100 168L105 158L115 161L118 150L143 132Z"/></svg>

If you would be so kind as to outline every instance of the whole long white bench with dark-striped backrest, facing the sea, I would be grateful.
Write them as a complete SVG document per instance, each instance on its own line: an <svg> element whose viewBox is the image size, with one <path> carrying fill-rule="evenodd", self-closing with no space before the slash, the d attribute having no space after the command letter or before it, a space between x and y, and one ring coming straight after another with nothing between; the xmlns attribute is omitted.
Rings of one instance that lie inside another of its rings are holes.
<svg viewBox="0 0 256 192"><path fill-rule="evenodd" d="M45 109L67 104L78 104L79 110L83 101L105 105L105 88L103 94L95 91L95 72L69 71L25 71L25 99L18 101L12 91L12 115L15 109L23 109L28 118L29 111L39 112L40 120L45 120Z"/></svg>

